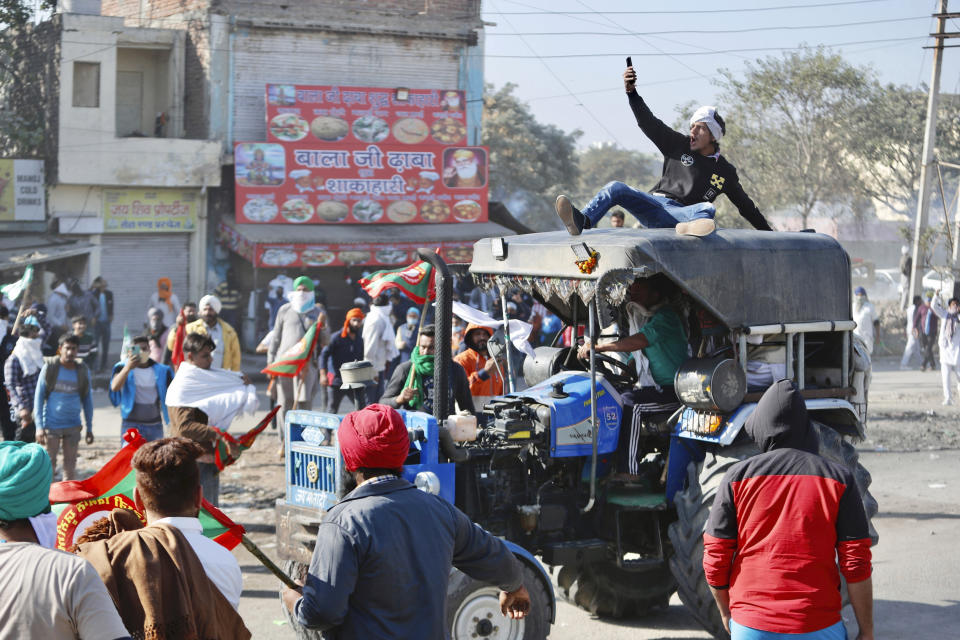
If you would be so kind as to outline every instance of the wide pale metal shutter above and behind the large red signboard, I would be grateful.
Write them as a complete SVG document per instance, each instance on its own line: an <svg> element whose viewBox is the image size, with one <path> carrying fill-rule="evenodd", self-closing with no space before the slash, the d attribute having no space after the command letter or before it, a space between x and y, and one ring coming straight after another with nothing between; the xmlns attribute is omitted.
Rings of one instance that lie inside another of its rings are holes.
<svg viewBox="0 0 960 640"><path fill-rule="evenodd" d="M463 43L386 35L249 30L234 42L233 138L267 139L267 84L456 89Z"/></svg>

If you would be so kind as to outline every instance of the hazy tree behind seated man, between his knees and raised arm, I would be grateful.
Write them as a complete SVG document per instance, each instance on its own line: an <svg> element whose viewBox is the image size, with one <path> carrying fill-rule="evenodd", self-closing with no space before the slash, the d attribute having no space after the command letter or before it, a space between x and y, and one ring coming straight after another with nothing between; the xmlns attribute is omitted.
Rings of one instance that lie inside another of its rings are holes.
<svg viewBox="0 0 960 640"><path fill-rule="evenodd" d="M580 180L571 196L580 207L608 182L617 180L646 191L660 175L659 158L653 154L623 149L616 143L592 145L577 154L577 161Z"/></svg>

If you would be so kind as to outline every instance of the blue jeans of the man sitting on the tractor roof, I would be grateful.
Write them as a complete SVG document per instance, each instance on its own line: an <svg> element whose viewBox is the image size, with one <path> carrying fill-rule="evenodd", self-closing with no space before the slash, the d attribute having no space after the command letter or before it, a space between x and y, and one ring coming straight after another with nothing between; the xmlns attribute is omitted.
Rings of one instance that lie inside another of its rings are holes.
<svg viewBox="0 0 960 640"><path fill-rule="evenodd" d="M648 229L672 229L678 222L713 218L717 209L709 202L684 206L676 200L640 191L622 182L607 183L583 208L589 227L597 226L611 207L621 206Z"/></svg>

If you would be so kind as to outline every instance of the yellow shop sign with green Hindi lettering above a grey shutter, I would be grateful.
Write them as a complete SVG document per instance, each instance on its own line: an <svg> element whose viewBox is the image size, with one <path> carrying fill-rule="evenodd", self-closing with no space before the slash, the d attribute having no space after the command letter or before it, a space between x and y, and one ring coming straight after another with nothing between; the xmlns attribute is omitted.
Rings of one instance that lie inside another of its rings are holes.
<svg viewBox="0 0 960 640"><path fill-rule="evenodd" d="M180 189L104 189L104 233L194 231L200 193Z"/></svg>

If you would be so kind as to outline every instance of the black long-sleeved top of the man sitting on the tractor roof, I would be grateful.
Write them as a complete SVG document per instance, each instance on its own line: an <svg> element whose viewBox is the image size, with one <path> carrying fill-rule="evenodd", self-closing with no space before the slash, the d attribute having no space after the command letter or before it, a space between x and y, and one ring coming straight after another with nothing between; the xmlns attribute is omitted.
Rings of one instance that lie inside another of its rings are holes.
<svg viewBox="0 0 960 640"><path fill-rule="evenodd" d="M747 222L757 229L770 231L766 218L740 186L737 169L726 158L691 151L690 137L674 131L654 116L636 91L628 93L627 98L640 129L663 154L663 175L651 192L662 193L685 206L713 202L725 193Z"/></svg>

